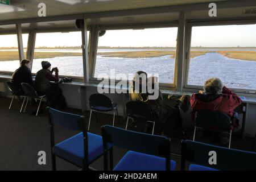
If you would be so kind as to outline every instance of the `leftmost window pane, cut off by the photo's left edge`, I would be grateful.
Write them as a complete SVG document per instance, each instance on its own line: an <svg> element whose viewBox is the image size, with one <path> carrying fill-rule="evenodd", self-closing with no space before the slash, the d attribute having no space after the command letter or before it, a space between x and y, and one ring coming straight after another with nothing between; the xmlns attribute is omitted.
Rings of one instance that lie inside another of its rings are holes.
<svg viewBox="0 0 256 182"><path fill-rule="evenodd" d="M28 34L23 34L22 39L26 57ZM17 35L0 35L0 71L14 72L19 66Z"/></svg>

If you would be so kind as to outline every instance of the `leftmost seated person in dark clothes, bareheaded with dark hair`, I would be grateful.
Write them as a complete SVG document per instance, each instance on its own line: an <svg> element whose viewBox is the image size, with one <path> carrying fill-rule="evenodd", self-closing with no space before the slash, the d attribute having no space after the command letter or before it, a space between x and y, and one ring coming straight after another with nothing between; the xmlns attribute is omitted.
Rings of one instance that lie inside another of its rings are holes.
<svg viewBox="0 0 256 182"><path fill-rule="evenodd" d="M23 59L22 61L20 61L20 67L16 69L16 71L13 73L13 76L11 76L11 82L13 82L22 93L22 82L28 83L31 86L33 86L32 73L30 67L30 60Z"/></svg>

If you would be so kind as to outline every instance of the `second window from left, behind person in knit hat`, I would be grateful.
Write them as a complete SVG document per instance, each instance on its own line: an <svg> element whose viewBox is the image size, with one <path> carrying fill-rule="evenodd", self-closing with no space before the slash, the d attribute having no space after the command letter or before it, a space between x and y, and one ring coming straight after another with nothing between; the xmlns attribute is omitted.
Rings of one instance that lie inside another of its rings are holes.
<svg viewBox="0 0 256 182"><path fill-rule="evenodd" d="M59 75L83 77L81 45L80 31L36 34L32 73L42 69L42 61L49 61L59 68Z"/></svg>

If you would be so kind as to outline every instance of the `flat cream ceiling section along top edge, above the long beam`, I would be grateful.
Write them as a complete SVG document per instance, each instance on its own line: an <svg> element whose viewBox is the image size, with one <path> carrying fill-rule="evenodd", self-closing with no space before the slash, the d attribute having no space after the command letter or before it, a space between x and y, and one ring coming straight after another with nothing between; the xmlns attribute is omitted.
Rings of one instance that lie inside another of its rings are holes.
<svg viewBox="0 0 256 182"><path fill-rule="evenodd" d="M71 0L72 1L72 0ZM47 16L95 13L100 11L114 11L127 9L141 9L147 7L185 5L212 2L212 0L80 0L85 3L68 5L56 0L10 0L11 5L26 11L0 14L1 20L38 18L38 4L45 3ZM215 0L214 2L229 1ZM1 13L1 7L0 7Z"/></svg>

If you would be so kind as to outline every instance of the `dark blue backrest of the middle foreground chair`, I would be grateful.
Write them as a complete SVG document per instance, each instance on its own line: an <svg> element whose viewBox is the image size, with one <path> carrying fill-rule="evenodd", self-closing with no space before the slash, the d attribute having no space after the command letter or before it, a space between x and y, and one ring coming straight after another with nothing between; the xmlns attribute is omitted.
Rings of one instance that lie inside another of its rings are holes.
<svg viewBox="0 0 256 182"><path fill-rule="evenodd" d="M167 170L170 170L170 139L135 131L124 130L118 127L105 125L101 127L103 145L113 144L127 150L143 154L161 156L166 158Z"/></svg>

